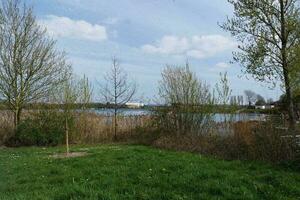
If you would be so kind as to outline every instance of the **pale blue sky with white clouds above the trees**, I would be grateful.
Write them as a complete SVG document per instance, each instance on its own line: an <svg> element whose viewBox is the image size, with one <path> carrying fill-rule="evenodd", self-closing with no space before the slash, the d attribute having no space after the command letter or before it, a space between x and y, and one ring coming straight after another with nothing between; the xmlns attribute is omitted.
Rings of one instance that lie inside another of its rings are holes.
<svg viewBox="0 0 300 200"><path fill-rule="evenodd" d="M232 15L225 0L25 0L39 23L68 55L74 72L103 80L112 57L138 84L138 97L153 99L162 69L188 62L213 87L228 72L234 95L251 89L277 99L279 88L246 77L230 64L238 43L218 23Z"/></svg>

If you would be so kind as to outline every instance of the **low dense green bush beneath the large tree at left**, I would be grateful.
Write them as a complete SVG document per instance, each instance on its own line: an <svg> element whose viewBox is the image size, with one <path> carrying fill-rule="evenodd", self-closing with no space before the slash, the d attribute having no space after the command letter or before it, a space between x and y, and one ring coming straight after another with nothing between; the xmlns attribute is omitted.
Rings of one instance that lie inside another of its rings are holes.
<svg viewBox="0 0 300 200"><path fill-rule="evenodd" d="M64 120L59 112L41 111L23 120L8 146L55 146L64 140Z"/></svg>

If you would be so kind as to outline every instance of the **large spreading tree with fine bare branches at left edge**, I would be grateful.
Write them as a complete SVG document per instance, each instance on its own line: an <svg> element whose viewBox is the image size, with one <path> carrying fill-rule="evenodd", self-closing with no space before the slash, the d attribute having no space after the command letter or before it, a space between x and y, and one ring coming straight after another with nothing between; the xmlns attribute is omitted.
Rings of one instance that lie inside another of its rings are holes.
<svg viewBox="0 0 300 200"><path fill-rule="evenodd" d="M51 88L65 80L69 67L31 8L21 6L18 0L2 1L0 97L14 113L15 128L24 106L43 100Z"/></svg>

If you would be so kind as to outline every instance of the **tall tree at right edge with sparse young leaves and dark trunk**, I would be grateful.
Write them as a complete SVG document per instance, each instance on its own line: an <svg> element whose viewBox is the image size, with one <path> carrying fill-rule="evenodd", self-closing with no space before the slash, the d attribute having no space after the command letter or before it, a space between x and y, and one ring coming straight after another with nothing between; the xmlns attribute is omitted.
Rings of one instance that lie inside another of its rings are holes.
<svg viewBox="0 0 300 200"><path fill-rule="evenodd" d="M221 27L241 45L234 61L258 81L283 82L288 102L290 129L295 128L291 68L300 43L297 0L228 0L234 16Z"/></svg>

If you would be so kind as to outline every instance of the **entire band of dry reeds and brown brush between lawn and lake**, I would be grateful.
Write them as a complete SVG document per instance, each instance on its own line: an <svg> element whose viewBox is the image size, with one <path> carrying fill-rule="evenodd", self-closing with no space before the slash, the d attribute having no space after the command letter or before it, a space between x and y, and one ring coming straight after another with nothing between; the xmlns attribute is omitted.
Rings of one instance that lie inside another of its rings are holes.
<svg viewBox="0 0 300 200"><path fill-rule="evenodd" d="M26 117L34 116L25 113ZM13 118L9 112L0 117L0 145L13 133ZM151 144L159 148L199 152L223 159L262 160L279 162L296 158L291 137L282 124L265 122L214 123L205 134L161 133L151 116L119 116L118 142ZM112 118L93 113L77 114L70 132L73 144L115 142Z"/></svg>

